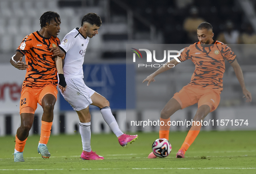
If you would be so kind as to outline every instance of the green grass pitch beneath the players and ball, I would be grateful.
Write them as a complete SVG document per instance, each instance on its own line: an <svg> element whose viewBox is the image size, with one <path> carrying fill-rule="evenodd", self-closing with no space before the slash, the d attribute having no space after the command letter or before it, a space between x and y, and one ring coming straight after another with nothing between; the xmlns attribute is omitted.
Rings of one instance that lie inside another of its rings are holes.
<svg viewBox="0 0 256 174"><path fill-rule="evenodd" d="M79 134L51 136L49 159L37 153L39 136L29 136L24 149L25 162L13 162L15 137L0 137L0 174L255 174L256 131L201 131L185 154L175 158L187 132L171 132L172 152L166 158L148 159L158 133L138 133L133 144L122 148L114 134L93 134L91 146L101 161L80 158Z"/></svg>

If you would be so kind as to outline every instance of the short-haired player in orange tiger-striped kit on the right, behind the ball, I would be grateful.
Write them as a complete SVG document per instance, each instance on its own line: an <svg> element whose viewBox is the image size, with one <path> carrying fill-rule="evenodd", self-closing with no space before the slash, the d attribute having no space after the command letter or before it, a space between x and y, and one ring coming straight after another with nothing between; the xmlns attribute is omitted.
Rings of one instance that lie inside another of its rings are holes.
<svg viewBox="0 0 256 174"><path fill-rule="evenodd" d="M195 64L195 70L191 77L191 82L184 86L179 92L175 93L160 114L160 121L164 122L164 126L160 125L159 137L169 139L168 121L170 116L176 111L198 103L198 110L194 116L194 121L201 121L214 111L220 103L220 92L223 89L222 77L225 72L225 60L233 67L237 79L243 89L243 94L246 97L246 102L252 101L251 93L246 89L243 73L240 65L237 63L236 55L226 44L219 41L214 41L211 24L202 22L197 30L199 42L191 44L189 47L181 50L181 55L178 57L180 62L191 59ZM174 64L179 62L175 59L166 64ZM168 66L162 66L156 72L149 75L143 82L154 82L154 77L158 74L169 70ZM165 126L166 125L166 126ZM193 124L188 131L188 135L179 149L176 158L185 158L185 152L198 136L201 125ZM156 158L152 152L148 158Z"/></svg>

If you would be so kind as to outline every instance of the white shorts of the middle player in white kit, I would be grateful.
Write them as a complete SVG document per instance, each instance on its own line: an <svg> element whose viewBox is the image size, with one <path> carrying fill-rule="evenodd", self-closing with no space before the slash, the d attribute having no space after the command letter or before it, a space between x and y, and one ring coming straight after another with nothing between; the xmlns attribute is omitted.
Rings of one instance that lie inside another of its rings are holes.
<svg viewBox="0 0 256 174"><path fill-rule="evenodd" d="M95 91L85 85L83 79L69 79L66 83L66 91L63 93L61 90L59 91L75 111L81 111L92 104L91 96Z"/></svg>

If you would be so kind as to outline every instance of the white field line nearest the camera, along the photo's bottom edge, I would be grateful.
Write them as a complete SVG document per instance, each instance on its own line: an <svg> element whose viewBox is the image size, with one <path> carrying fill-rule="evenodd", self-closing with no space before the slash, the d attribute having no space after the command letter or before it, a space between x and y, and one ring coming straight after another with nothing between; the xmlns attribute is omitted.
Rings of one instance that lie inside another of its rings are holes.
<svg viewBox="0 0 256 174"><path fill-rule="evenodd" d="M193 169L256 169L256 168L82 168L77 170L193 170ZM55 168L55 169L0 169L0 171L54 171L54 170L76 170L72 169L63 169L63 168Z"/></svg>

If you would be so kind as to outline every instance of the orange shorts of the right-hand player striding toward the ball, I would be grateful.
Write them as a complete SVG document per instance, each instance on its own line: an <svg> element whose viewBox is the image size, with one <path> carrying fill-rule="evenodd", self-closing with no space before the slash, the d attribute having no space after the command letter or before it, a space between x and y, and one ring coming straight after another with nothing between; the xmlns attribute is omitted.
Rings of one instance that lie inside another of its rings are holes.
<svg viewBox="0 0 256 174"><path fill-rule="evenodd" d="M202 88L198 86L186 85L173 96L181 105L181 109L187 108L198 103L198 108L201 105L208 105L211 111L214 111L220 104L220 94L213 89Z"/></svg>

